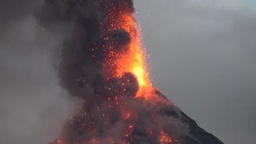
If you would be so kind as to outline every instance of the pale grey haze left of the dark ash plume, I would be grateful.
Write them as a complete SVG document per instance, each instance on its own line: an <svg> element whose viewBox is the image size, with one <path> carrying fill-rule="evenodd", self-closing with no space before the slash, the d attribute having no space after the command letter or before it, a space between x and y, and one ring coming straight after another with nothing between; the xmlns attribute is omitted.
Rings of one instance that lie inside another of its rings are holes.
<svg viewBox="0 0 256 144"><path fill-rule="evenodd" d="M51 59L61 37L38 26L39 4L0 2L0 143L51 141L77 104L58 86Z"/></svg>

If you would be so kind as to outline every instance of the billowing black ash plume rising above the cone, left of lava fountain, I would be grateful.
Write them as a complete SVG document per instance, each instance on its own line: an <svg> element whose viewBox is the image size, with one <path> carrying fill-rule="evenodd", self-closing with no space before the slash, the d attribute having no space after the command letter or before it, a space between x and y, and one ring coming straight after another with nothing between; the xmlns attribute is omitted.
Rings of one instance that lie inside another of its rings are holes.
<svg viewBox="0 0 256 144"><path fill-rule="evenodd" d="M112 9L115 7L116 10ZM113 14L125 10L133 13L131 1L77 1L77 0L46 0L44 13L40 15L42 24L53 26L65 23L70 25L67 30L69 36L63 42L62 59L58 65L58 75L63 88L71 95L86 97L84 91L93 89L94 94L102 98L106 95L114 95L110 87L122 89L120 83L130 79L128 93L136 93L138 82L133 74L124 74L123 78L110 78L109 70L105 70L103 64L110 51L125 53L130 43L130 35L126 30L114 30L108 32L108 13ZM57 25L58 26L58 25ZM109 47L112 47L110 49ZM113 89L113 90L114 90ZM89 98L90 99L90 98Z"/></svg>

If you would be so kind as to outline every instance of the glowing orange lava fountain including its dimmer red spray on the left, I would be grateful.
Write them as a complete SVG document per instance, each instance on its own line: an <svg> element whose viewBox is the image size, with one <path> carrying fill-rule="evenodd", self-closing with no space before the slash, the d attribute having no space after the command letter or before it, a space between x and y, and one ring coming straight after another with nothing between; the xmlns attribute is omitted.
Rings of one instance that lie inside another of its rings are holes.
<svg viewBox="0 0 256 144"><path fill-rule="evenodd" d="M126 30L130 34L130 45L128 51L122 53L115 53L110 51L108 58L106 58L106 66L111 70L110 74L114 74L116 77L121 77L126 72L131 72L138 79L139 90L136 97L143 97L144 90L151 86L149 72L146 68L145 53L142 50L141 44L141 30L136 24L134 14L130 12L121 11L118 16L112 16L110 11L108 16L110 24L106 26L107 31L114 30ZM110 49L112 47L109 47Z"/></svg>

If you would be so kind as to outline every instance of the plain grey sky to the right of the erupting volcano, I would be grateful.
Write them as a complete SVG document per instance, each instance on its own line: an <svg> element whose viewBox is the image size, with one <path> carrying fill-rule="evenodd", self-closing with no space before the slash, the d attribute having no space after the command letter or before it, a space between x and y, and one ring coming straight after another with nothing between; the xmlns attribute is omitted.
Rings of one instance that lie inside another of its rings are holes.
<svg viewBox="0 0 256 144"><path fill-rule="evenodd" d="M248 2L135 1L156 86L227 144L256 136L256 9Z"/></svg>

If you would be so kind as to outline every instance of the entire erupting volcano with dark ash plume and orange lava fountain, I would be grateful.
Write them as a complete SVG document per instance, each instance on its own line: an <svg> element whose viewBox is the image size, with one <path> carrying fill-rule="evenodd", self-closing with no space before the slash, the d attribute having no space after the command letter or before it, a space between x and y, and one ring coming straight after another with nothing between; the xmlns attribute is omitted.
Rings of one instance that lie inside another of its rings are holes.
<svg viewBox="0 0 256 144"><path fill-rule="evenodd" d="M46 0L39 19L67 26L59 82L83 102L52 143L222 143L151 85L132 0Z"/></svg>

